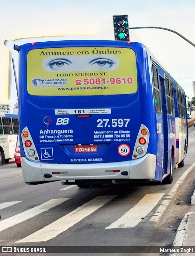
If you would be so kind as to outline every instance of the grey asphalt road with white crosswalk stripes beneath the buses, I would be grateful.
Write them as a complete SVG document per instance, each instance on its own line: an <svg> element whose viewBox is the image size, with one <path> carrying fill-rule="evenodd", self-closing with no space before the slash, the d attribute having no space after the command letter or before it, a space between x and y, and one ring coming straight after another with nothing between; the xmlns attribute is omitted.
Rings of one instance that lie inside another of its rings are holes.
<svg viewBox="0 0 195 256"><path fill-rule="evenodd" d="M178 184L184 180L182 175L189 171L195 160L195 128L191 126L188 131L189 147L185 165L174 170L173 183L168 185L134 182L129 186L90 189L62 186L61 182L27 185L23 182L21 168L16 167L14 162L2 165L0 244L56 248L170 245L177 227L173 229L171 224L164 225L169 218L166 208L175 200ZM190 179L189 175L187 177ZM194 189L194 183L189 184L186 193ZM121 251L112 252L112 255L129 254Z"/></svg>

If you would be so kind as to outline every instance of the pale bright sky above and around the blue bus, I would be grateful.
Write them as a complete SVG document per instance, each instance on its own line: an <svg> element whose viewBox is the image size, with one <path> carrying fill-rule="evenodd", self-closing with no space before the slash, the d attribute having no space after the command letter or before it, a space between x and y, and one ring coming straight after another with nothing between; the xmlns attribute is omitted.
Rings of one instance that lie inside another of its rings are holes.
<svg viewBox="0 0 195 256"><path fill-rule="evenodd" d="M9 62L14 58L18 73L18 53L12 50L14 43L56 40L53 36L61 36L58 40L114 40L112 16L123 14L128 15L129 27L169 28L195 43L194 13L194 0L0 0L0 103L9 100L14 104L17 100ZM33 39L16 40L19 38ZM5 40L9 41L7 46ZM144 43L191 100L195 47L160 29L132 29L130 40Z"/></svg>

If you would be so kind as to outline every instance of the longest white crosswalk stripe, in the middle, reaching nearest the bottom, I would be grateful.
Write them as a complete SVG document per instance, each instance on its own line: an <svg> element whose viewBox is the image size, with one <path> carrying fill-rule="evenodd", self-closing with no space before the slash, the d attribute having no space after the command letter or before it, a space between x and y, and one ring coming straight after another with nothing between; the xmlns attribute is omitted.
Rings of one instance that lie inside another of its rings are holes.
<svg viewBox="0 0 195 256"><path fill-rule="evenodd" d="M68 228L95 212L116 196L98 196L16 243L46 242L60 233L65 232Z"/></svg>

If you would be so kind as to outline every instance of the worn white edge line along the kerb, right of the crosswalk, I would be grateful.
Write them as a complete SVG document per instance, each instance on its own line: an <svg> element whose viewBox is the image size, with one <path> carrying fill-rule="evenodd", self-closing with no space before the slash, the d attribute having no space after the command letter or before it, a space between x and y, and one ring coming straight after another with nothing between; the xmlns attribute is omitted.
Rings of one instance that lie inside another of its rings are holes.
<svg viewBox="0 0 195 256"><path fill-rule="evenodd" d="M179 186L183 183L184 179L188 175L188 173L195 167L195 162L181 175L181 177L176 181L175 185L172 187L172 189L169 191L169 193L166 196L166 199L172 199L173 196L176 194L177 189ZM164 200L162 201L163 205L160 205L154 215L151 217L150 221L158 222L158 220L163 215L165 209L168 207L171 200Z"/></svg>

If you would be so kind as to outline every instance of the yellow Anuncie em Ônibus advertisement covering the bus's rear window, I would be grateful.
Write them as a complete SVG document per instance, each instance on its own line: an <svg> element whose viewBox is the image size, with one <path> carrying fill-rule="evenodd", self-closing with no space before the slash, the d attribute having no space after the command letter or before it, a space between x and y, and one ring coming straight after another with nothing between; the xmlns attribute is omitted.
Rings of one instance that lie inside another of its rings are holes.
<svg viewBox="0 0 195 256"><path fill-rule="evenodd" d="M137 91L132 49L63 47L27 54L27 90L31 95L82 96L131 94Z"/></svg>

